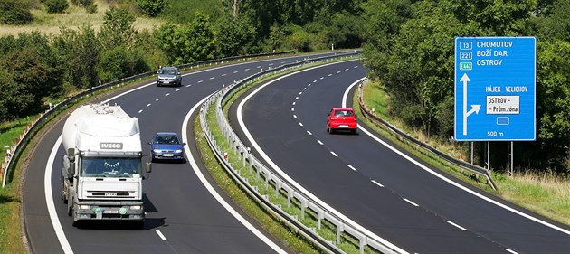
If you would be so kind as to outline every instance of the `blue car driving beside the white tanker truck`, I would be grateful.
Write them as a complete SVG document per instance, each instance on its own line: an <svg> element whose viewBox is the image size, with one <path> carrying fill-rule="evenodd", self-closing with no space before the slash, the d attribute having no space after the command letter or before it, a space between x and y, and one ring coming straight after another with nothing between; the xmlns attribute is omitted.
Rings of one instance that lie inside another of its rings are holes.
<svg viewBox="0 0 570 254"><path fill-rule="evenodd" d="M152 162L157 160L170 160L184 162L184 146L178 134L174 132L157 132L150 145L150 157Z"/></svg>

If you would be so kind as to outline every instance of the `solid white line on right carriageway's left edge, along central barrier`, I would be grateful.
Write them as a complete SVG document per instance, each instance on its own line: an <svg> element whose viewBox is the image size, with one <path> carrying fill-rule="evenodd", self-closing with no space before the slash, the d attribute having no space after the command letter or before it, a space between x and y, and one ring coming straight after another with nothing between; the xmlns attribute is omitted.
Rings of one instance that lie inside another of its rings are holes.
<svg viewBox="0 0 570 254"><path fill-rule="evenodd" d="M348 61L356 61L356 60L348 60ZM261 149L261 146L259 146L257 144L257 142L253 139L252 134L250 133L249 129L247 127L245 127L245 124L243 122L243 117L242 117L242 108L243 105L245 104L245 102L247 102L247 100L251 99L253 97L253 95L255 95L256 93L258 93L261 89L265 88L266 86L271 85L273 82L276 82L278 80L282 80L285 79L287 77L290 77L292 75L295 74L299 74L300 72L303 71L311 71L317 68L322 68L325 66L329 66L329 65L333 65L333 64L338 64L338 63L343 63L343 62L347 62L347 61L338 61L338 62L333 62L333 63L328 63L325 65L320 65L320 66L316 66L316 67L312 67L309 69L304 69L304 70L300 70L300 71L295 71L292 72L290 74L286 74L284 76L281 76L280 78L277 78L275 80L271 80L263 85L261 85L259 88L255 89L254 91L252 91L252 93L248 94L245 99L242 100L242 102L240 102L240 104L238 105L237 108L237 117L238 117L238 122L240 124L240 127L242 127L243 133L245 136L247 136L247 138L249 139L249 141L252 143L252 146L255 148L256 151L258 151L261 155L261 157L263 157L263 159L265 159L265 161L269 164L269 166L271 166L275 171L277 171L283 178L285 178L286 181L288 181L289 183L291 183L291 185L293 185L296 189L298 189L301 193L306 193L310 199L312 199L315 202L318 202L318 204L320 204L322 207L324 207L325 209L327 209L328 211L334 213L338 218L341 218L341 220L343 221L347 221L347 223L349 223L350 225L355 226L356 230L360 230L362 232L364 232L366 235L369 235L373 240L380 242L382 244L384 244L385 246L394 249L395 251L402 253L402 254L407 254L408 252L405 251L404 249L401 249L397 246L395 246L393 243L384 240L382 238L380 238L379 236L377 236L375 233L371 232L370 230L366 230L364 227L362 227L361 225L357 224L355 221L350 220L347 216L345 216L344 214L337 212L337 210L335 210L334 208L332 208L330 205L328 205L328 203L321 201L320 199L318 199L317 196L315 196L313 193L309 193L309 191L307 189L305 189L303 186L301 186L299 183L295 182L292 178L290 178L290 176L288 174L285 174L278 165L276 165L271 158L265 154L265 152ZM364 78L363 78L364 79ZM315 80L314 82L316 82L317 80ZM358 80L356 81L358 82ZM356 84L356 82L354 84ZM353 84L353 85L354 85Z"/></svg>

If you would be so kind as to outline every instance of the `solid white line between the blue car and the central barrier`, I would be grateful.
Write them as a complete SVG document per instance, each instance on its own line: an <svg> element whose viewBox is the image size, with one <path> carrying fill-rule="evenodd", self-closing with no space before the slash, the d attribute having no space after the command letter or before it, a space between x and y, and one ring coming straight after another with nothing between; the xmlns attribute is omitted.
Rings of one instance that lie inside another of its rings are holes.
<svg viewBox="0 0 570 254"><path fill-rule="evenodd" d="M188 114L184 118L181 133L182 133L182 139L184 140L184 142L186 144L188 144L188 135L186 134L186 130L188 129L188 121L190 121L190 117L192 116L192 114L194 114L194 111L196 110L196 108L200 107L202 105L202 103L204 103L204 101L206 99L208 99L208 97L210 97L210 96L205 97L204 99L200 100L200 102L195 104L194 107L192 107L190 109L190 111L188 112ZM198 118L199 118L199 116L198 116ZM194 125L194 123L193 123L193 125ZM202 182L204 184L204 186L208 190L208 192L210 192L210 194L212 194L212 196L214 196L214 198L223 206L223 208L225 208L225 210L230 212L235 219L242 222L242 225L244 227L246 227L248 230L252 231L252 233L255 236L257 236L260 240L265 242L265 244L267 244L269 247L271 247L271 249L275 250L278 253L286 254L287 252L285 250L281 249L272 240L268 239L264 234L261 233L260 230L257 230L255 227L253 227L253 225L249 221L245 220L239 212L236 212L235 210L233 210L233 207L230 204L228 204L227 202L225 202L225 200L222 198L222 196L220 196L220 194L215 192L214 187L212 185L210 185L210 183L208 183L208 181L204 177L204 174L202 174L202 171L200 171L200 169L198 168L198 165L195 162L194 156L190 152L190 148L188 146L184 146L184 149L185 149L186 157L188 157L188 162L192 166L194 173L196 174L196 176L198 176L198 179L200 179L200 182Z"/></svg>

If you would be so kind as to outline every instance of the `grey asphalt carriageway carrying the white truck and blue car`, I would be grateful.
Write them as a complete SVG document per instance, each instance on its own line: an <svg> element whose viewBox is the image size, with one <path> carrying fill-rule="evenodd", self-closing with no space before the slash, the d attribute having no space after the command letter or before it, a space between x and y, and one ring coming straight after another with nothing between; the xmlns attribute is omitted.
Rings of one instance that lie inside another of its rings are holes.
<svg viewBox="0 0 570 254"><path fill-rule="evenodd" d="M324 55L324 54L321 54ZM313 56L315 57L315 56ZM185 164L153 164L143 183L147 221L144 230L128 223L90 221L73 227L61 199L60 172L65 118L41 133L24 174L24 232L33 253L285 253L279 240L267 236L260 226L235 208L233 202L211 183L196 154L192 123L184 119L199 102L224 85L261 70L302 60L303 56L251 61L183 76L181 88L142 83L117 91L95 102L119 104L139 119L143 152L157 131L188 136ZM195 111L194 111L195 113ZM145 157L143 160L147 160Z"/></svg>

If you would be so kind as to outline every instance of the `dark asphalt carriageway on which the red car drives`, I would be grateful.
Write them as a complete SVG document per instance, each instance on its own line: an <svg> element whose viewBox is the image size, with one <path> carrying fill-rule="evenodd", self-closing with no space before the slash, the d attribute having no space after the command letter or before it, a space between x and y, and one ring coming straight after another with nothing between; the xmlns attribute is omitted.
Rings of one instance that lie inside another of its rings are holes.
<svg viewBox="0 0 570 254"><path fill-rule="evenodd" d="M230 110L233 129L261 148L252 153L265 165L409 253L568 253L566 225L462 183L363 125L329 135L328 111L343 97L350 107L347 89L366 73L347 61L251 89Z"/></svg>

